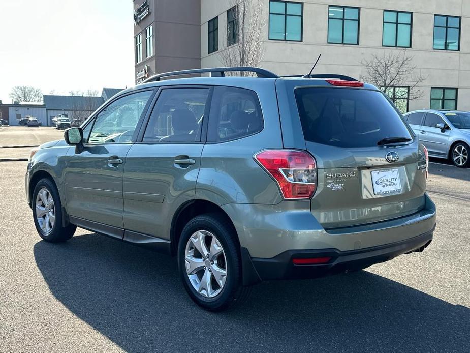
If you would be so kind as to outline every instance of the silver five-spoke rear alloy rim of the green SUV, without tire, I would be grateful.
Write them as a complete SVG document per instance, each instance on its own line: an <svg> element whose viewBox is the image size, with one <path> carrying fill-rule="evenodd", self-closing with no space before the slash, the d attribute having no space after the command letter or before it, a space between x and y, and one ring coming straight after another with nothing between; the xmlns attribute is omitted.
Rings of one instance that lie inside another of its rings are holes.
<svg viewBox="0 0 470 353"><path fill-rule="evenodd" d="M220 241L207 230L188 239L184 252L186 273L193 288L205 298L217 296L227 280L227 260Z"/></svg>

